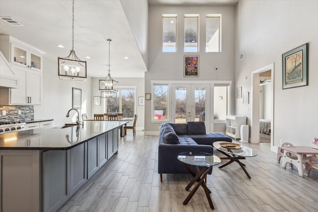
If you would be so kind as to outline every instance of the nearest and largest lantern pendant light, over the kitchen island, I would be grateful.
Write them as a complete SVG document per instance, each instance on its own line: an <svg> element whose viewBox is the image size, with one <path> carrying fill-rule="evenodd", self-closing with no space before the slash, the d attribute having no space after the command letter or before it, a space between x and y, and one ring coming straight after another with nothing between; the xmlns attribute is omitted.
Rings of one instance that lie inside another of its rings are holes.
<svg viewBox="0 0 318 212"><path fill-rule="evenodd" d="M86 61L79 60L74 51L74 0L72 12L72 50L66 58L58 58L59 77L60 79L85 81Z"/></svg>

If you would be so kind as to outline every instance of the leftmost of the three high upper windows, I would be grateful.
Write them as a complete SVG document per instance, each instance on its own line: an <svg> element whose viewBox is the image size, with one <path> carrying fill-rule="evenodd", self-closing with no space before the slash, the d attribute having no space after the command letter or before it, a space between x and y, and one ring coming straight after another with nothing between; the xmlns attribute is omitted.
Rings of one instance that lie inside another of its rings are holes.
<svg viewBox="0 0 318 212"><path fill-rule="evenodd" d="M162 15L162 52L177 51L177 15Z"/></svg>

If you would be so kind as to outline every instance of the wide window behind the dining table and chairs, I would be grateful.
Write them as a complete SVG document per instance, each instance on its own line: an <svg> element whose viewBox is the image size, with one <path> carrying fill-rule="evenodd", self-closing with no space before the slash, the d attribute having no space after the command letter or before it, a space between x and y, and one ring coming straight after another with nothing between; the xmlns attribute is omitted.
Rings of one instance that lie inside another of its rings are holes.
<svg viewBox="0 0 318 212"><path fill-rule="evenodd" d="M136 90L121 88L117 98L106 98L105 113L123 113L124 118L134 118L136 108Z"/></svg>

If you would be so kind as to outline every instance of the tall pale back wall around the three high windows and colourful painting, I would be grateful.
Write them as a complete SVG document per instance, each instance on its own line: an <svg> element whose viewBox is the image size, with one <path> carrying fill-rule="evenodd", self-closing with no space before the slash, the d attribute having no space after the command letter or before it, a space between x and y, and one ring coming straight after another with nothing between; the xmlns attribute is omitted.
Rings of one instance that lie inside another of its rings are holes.
<svg viewBox="0 0 318 212"><path fill-rule="evenodd" d="M177 14L177 52L162 53L162 14ZM184 14L199 14L198 53L184 53ZM222 14L222 52L205 53L205 17ZM149 56L145 92L151 80L234 80L235 6L149 6ZM183 76L184 55L199 55L199 77ZM218 68L218 70L216 70ZM234 88L233 88L234 91ZM234 101L234 98L233 98ZM234 108L234 107L232 107ZM158 132L160 123L151 122L151 101L145 105L145 131Z"/></svg>

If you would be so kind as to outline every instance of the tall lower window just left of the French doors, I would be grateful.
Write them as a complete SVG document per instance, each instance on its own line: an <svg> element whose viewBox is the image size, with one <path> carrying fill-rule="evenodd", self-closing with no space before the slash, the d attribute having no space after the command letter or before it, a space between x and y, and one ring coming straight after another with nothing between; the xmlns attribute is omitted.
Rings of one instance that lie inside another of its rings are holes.
<svg viewBox="0 0 318 212"><path fill-rule="evenodd" d="M153 120L168 120L168 84L154 84Z"/></svg>

